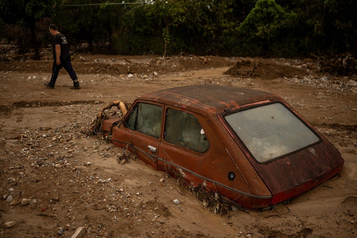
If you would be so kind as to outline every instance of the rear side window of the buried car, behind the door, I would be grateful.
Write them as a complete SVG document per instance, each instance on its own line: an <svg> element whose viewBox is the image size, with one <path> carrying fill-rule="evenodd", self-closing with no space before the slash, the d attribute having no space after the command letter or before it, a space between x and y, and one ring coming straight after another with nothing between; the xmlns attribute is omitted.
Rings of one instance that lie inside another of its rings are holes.
<svg viewBox="0 0 357 238"><path fill-rule="evenodd" d="M167 142L197 152L205 152L210 147L197 118L172 108L167 109L164 138Z"/></svg>

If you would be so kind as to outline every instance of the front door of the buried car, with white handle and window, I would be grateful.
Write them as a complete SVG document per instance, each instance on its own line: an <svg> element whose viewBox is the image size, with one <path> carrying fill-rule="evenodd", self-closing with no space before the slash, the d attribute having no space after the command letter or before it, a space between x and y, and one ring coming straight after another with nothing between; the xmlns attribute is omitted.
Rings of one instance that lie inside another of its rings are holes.
<svg viewBox="0 0 357 238"><path fill-rule="evenodd" d="M154 169L157 169L163 108L160 103L137 101L123 122L123 142Z"/></svg>

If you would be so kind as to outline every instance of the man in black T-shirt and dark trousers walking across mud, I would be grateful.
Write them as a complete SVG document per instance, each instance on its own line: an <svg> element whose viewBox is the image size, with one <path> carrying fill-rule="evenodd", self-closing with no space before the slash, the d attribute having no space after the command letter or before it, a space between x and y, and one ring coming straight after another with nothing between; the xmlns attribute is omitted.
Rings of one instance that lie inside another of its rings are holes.
<svg viewBox="0 0 357 238"><path fill-rule="evenodd" d="M57 30L55 24L51 24L50 33L52 38L52 53L53 53L53 66L52 66L52 76L50 82L45 82L44 85L48 88L55 88L56 79L58 72L62 67L68 72L69 76L73 81L73 86L71 89L80 89L78 78L76 72L74 72L71 64L71 55L69 53L69 46L66 37Z"/></svg>

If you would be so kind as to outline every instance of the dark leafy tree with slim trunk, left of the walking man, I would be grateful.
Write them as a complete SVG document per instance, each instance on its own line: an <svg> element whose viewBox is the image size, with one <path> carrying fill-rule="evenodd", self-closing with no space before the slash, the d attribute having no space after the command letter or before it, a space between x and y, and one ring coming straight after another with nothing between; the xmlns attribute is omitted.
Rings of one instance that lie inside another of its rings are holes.
<svg viewBox="0 0 357 238"><path fill-rule="evenodd" d="M40 59L37 40L36 22L55 14L56 0L2 0L0 16L5 23L22 25L30 29L35 60Z"/></svg>

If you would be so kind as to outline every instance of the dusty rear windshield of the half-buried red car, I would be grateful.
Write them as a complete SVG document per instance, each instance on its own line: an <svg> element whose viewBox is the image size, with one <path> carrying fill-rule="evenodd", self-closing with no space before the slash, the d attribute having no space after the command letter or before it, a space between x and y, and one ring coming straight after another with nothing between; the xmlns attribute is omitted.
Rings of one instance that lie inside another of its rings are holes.
<svg viewBox="0 0 357 238"><path fill-rule="evenodd" d="M236 135L260 163L298 151L320 139L281 103L225 116Z"/></svg>

